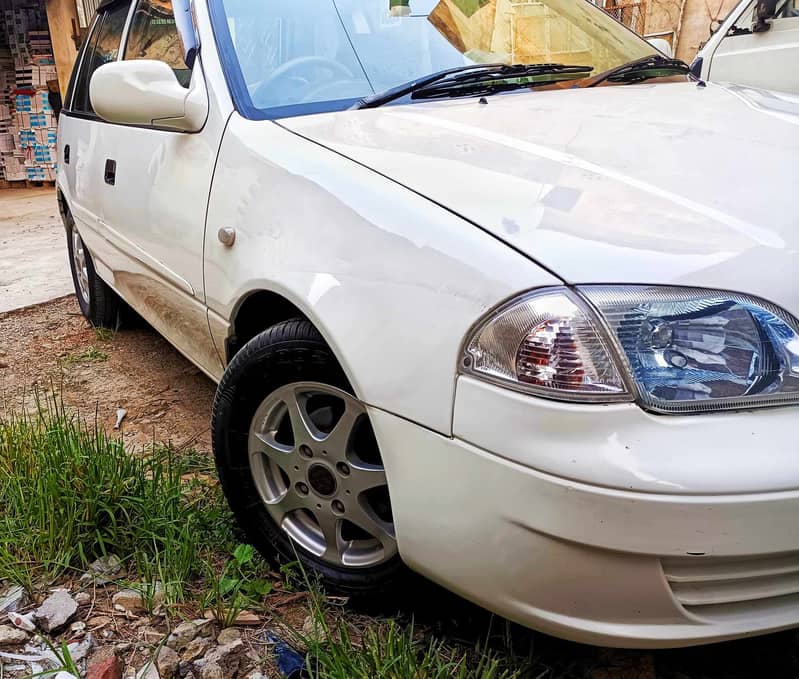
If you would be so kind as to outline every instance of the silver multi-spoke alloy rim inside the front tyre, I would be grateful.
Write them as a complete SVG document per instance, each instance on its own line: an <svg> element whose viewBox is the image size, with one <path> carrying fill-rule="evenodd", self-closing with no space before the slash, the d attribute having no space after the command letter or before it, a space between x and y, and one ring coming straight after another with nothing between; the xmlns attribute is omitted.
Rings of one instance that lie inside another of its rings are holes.
<svg viewBox="0 0 799 679"><path fill-rule="evenodd" d="M386 472L366 409L325 384L289 384L259 406L249 433L253 480L272 519L334 566L397 554Z"/></svg>

